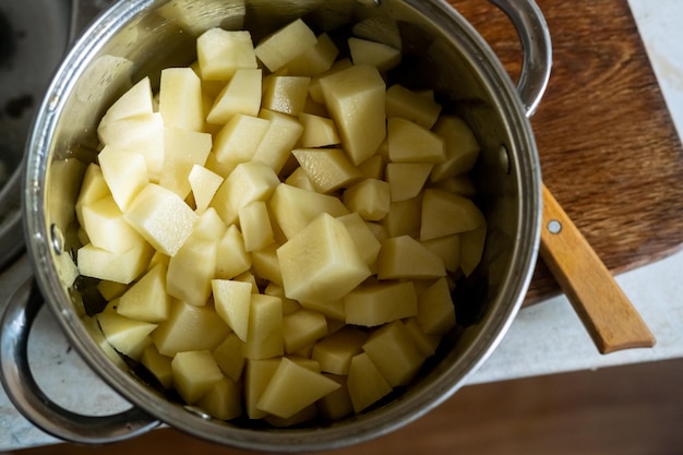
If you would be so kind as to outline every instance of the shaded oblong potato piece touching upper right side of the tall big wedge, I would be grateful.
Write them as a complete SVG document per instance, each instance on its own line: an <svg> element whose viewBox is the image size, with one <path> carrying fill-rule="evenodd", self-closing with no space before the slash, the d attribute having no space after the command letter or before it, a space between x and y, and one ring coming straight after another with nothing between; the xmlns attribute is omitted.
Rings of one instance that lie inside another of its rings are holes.
<svg viewBox="0 0 683 455"><path fill-rule="evenodd" d="M386 91L386 117L399 117L430 130L441 113L441 105L419 92L394 84Z"/></svg>

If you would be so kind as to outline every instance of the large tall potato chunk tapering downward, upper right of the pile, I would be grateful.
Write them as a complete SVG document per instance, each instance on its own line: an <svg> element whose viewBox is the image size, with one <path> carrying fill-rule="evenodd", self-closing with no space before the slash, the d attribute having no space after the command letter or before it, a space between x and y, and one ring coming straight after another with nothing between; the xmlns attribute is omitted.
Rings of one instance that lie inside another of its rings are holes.
<svg viewBox="0 0 683 455"><path fill-rule="evenodd" d="M374 67L352 65L321 77L320 86L349 159L364 161L386 137L384 80Z"/></svg>

